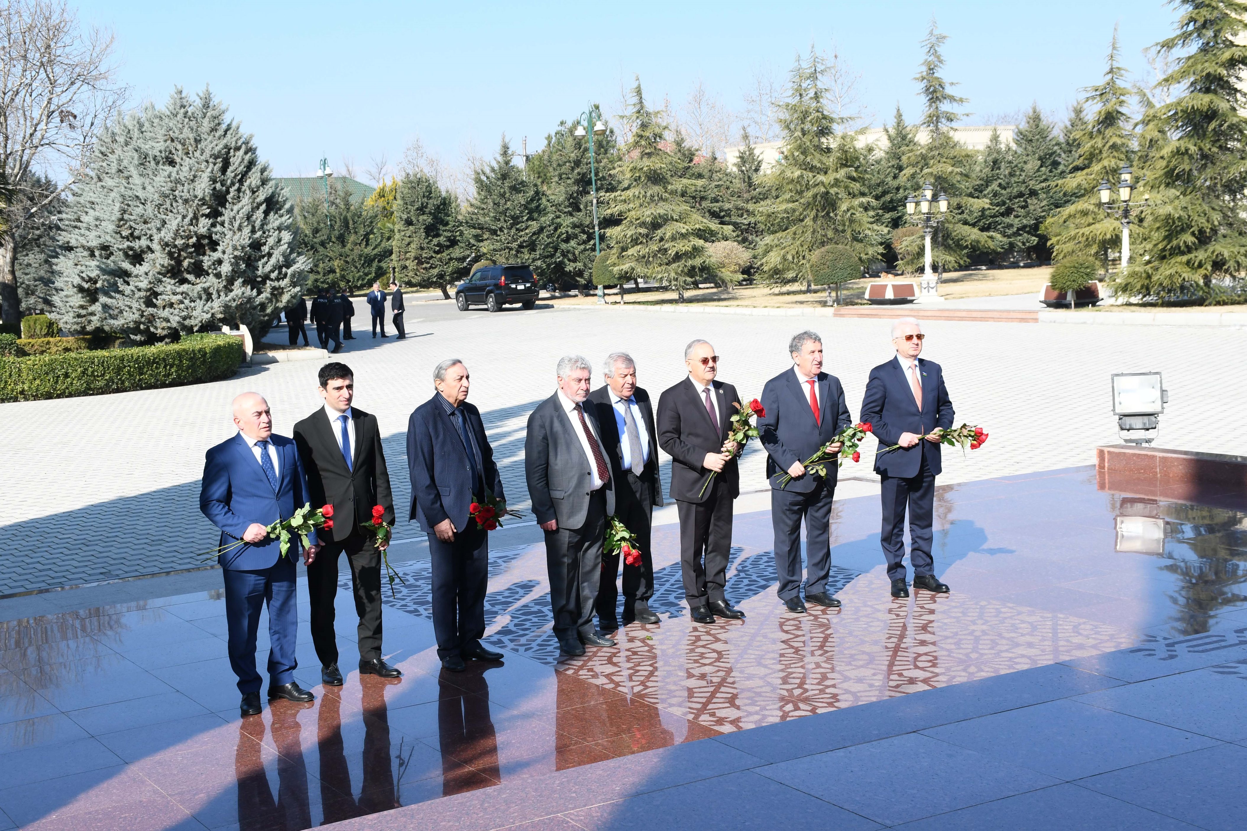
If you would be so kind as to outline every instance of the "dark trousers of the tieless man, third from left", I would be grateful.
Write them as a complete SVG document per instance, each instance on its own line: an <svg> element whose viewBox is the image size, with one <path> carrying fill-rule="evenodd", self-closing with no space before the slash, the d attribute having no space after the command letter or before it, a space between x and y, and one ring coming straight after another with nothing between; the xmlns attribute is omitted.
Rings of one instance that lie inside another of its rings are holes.
<svg viewBox="0 0 1247 831"><path fill-rule="evenodd" d="M485 587L489 583L489 533L469 518L454 542L429 534L433 571L433 634L438 658L458 655L485 634Z"/></svg>

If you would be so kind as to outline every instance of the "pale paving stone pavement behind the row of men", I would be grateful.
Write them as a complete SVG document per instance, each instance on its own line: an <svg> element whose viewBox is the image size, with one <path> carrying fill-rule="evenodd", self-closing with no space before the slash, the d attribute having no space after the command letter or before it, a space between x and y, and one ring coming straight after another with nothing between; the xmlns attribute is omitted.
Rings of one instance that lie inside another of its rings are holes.
<svg viewBox="0 0 1247 831"><path fill-rule="evenodd" d="M657 397L685 375L685 344L712 341L722 378L744 396L788 366L788 339L819 331L826 369L844 385L854 417L870 368L892 356L889 323L828 318L658 314L642 308L508 310L408 323L405 341L360 338L339 358L355 373L357 404L380 420L395 503L407 506L405 430L433 394L433 368L464 359L470 400L480 407L510 503L525 510L524 431L529 412L554 391L554 366L580 353L600 379L616 349L637 361ZM944 366L958 422L983 425L991 441L963 458L946 451L941 482L1086 465L1117 441L1109 376L1160 370L1170 390L1157 446L1247 455L1238 409L1247 376L1226 371L1243 333L1180 326L1062 326L928 321L925 358ZM284 330L276 333L284 338ZM273 364L214 384L84 399L0 404L0 596L150 574L200 564L214 544L198 511L205 451L233 434L229 401L263 394L276 430L320 405L318 361ZM873 478L874 442L842 476ZM946 450L946 449L945 449ZM744 488L762 488L764 453L746 451ZM662 458L665 473L670 458ZM419 534L399 508L397 537Z"/></svg>

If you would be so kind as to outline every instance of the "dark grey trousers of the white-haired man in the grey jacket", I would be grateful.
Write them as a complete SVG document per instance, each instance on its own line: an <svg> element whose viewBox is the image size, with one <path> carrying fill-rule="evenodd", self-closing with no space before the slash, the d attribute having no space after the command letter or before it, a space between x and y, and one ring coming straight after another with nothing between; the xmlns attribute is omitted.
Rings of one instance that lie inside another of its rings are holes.
<svg viewBox="0 0 1247 831"><path fill-rule="evenodd" d="M579 528L546 531L546 571L550 574L550 608L559 638L594 633L594 601L602 576L602 542L606 534L606 493L589 497L589 512Z"/></svg>

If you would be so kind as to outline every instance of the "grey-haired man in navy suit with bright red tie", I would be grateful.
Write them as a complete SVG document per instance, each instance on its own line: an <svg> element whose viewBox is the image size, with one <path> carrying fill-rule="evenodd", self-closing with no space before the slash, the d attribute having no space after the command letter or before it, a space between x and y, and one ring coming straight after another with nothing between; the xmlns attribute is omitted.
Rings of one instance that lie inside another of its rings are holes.
<svg viewBox="0 0 1247 831"><path fill-rule="evenodd" d="M767 478L771 480L771 525L774 527L776 574L779 599L789 612L801 614L801 522L806 521L806 603L828 608L840 602L827 593L832 567L831 517L835 496L838 463L827 465L827 477L807 473L802 462L828 444L852 422L844 406L844 390L834 375L823 371L823 339L813 331L794 335L788 343L792 368L762 387L766 416L758 419L758 437L767 449ZM839 452L839 442L831 446ZM788 473L792 480L779 487Z"/></svg>

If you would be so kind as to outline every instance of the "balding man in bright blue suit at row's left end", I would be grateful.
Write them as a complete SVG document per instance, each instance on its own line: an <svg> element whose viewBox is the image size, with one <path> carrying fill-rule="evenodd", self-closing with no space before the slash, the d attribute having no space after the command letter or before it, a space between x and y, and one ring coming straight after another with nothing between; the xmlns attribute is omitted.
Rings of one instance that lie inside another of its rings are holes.
<svg viewBox="0 0 1247 831"><path fill-rule="evenodd" d="M267 527L288 520L308 500L303 462L294 442L273 435L268 402L254 392L233 401L238 432L208 451L200 490L200 511L221 528L221 544L242 539L247 544L221 554L217 562L226 583L226 618L229 624L229 665L238 677L242 715L259 714L256 670L256 633L259 613L268 603L268 700L284 698L311 701L312 693L294 680L294 640L298 629L296 608L293 539L286 557L281 544L269 538ZM304 564L319 548L315 531L308 534Z"/></svg>

